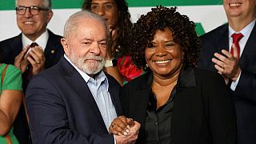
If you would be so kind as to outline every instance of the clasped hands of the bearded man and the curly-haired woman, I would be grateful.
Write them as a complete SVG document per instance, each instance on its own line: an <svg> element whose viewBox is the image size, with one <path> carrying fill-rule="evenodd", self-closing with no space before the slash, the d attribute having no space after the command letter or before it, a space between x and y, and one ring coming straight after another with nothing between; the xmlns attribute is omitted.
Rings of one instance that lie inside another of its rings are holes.
<svg viewBox="0 0 256 144"><path fill-rule="evenodd" d="M110 133L115 134L114 137L117 144L135 143L138 138L138 130L140 124L131 118L119 116L114 118L110 125Z"/></svg>

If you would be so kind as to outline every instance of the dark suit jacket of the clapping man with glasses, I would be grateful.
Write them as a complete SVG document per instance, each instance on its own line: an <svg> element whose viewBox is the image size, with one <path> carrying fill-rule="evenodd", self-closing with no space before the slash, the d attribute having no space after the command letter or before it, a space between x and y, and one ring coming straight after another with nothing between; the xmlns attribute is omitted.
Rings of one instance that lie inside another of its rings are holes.
<svg viewBox="0 0 256 144"><path fill-rule="evenodd" d="M64 54L64 50L61 44L62 37L52 33L50 30L48 30L48 32L49 39L44 51L46 56L46 69L58 63L59 59ZM22 34L0 42L0 49L2 50L2 62L7 64L14 64L15 57L22 51ZM24 91L26 90L28 82L28 72L26 71L22 74L22 87ZM29 133L30 131L26 122L26 114L24 106L22 105L14 122L14 134L21 144L28 144L29 142L27 141Z"/></svg>

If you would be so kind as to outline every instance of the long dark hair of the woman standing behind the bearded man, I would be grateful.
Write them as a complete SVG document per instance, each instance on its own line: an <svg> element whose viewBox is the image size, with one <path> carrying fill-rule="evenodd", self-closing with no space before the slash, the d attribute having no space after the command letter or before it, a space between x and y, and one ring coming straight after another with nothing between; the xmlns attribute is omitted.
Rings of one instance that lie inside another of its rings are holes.
<svg viewBox="0 0 256 144"><path fill-rule="evenodd" d="M85 0L82 4L82 10L90 10L92 0ZM130 13L128 11L128 6L125 0L114 0L118 7L119 18L117 23L116 38L113 40L112 46L114 51L112 51L113 57L128 55L129 50L127 48L127 35L133 26L130 21ZM117 55L118 54L118 55Z"/></svg>

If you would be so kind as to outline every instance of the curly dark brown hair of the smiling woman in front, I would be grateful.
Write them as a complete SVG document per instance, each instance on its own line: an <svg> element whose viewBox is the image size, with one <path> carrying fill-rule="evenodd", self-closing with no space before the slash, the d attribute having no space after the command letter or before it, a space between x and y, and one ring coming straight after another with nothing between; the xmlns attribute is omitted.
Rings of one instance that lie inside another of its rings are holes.
<svg viewBox="0 0 256 144"><path fill-rule="evenodd" d="M180 44L184 68L196 67L198 63L199 38L195 31L194 22L186 15L179 14L177 7L157 6L149 13L142 15L130 32L130 55L138 68L146 70L145 49L154 39L156 30L169 27L173 33L174 42Z"/></svg>

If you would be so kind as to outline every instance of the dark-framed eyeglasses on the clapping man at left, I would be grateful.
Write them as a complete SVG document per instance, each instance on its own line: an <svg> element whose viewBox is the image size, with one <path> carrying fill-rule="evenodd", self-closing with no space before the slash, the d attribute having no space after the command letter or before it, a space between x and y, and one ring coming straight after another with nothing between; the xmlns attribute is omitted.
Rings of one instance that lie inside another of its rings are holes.
<svg viewBox="0 0 256 144"><path fill-rule="evenodd" d="M40 10L49 10L48 8L44 8L44 7L39 7L39 6L18 6L15 8L16 13L18 15L23 15L26 13L26 9L30 10L30 14L32 15L37 15L39 13Z"/></svg>

